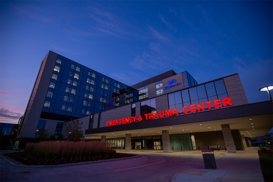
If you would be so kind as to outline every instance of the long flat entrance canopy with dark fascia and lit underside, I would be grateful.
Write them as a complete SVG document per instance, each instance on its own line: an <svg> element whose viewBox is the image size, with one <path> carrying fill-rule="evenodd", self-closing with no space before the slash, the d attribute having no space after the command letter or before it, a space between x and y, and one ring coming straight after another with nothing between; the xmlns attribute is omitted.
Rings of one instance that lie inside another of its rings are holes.
<svg viewBox="0 0 273 182"><path fill-rule="evenodd" d="M258 102L241 106L214 109L197 113L176 115L161 119L126 123L122 125L88 129L85 139L121 138L131 133L132 137L170 134L222 131L221 125L229 124L241 135L250 139L264 136L272 127L272 102Z"/></svg>

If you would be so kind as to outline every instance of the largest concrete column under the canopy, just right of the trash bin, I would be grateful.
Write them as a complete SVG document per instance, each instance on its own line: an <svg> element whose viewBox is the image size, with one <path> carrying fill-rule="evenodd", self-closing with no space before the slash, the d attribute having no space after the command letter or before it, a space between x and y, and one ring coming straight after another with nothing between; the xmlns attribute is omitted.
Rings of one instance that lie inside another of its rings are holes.
<svg viewBox="0 0 273 182"><path fill-rule="evenodd" d="M228 153L237 153L229 124L221 125Z"/></svg>

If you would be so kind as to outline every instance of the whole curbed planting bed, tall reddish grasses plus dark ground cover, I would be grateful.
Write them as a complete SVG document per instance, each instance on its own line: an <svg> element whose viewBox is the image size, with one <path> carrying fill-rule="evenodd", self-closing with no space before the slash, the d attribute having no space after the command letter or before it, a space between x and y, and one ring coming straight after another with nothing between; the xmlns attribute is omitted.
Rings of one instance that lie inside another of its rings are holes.
<svg viewBox="0 0 273 182"><path fill-rule="evenodd" d="M28 143L24 152L4 154L25 165L59 165L115 158L134 154L116 153L107 142L60 142Z"/></svg>

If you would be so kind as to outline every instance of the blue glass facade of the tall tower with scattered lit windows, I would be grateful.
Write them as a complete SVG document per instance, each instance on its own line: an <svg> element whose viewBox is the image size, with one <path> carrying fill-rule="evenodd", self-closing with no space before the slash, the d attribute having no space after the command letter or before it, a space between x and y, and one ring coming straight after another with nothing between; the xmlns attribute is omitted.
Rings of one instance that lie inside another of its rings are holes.
<svg viewBox="0 0 273 182"><path fill-rule="evenodd" d="M58 55L41 118L67 121L99 113L105 110L106 100L114 92L127 87Z"/></svg>

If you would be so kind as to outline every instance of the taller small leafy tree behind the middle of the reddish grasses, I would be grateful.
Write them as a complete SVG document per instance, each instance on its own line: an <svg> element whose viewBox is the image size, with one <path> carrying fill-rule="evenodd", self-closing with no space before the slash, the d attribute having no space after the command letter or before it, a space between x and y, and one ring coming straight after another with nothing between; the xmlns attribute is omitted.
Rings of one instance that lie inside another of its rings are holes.
<svg viewBox="0 0 273 182"><path fill-rule="evenodd" d="M69 141L80 140L83 137L83 132L81 131L81 125L83 122L77 119L76 121L71 120L70 122L65 123L65 133Z"/></svg>

